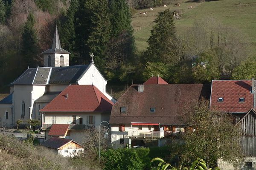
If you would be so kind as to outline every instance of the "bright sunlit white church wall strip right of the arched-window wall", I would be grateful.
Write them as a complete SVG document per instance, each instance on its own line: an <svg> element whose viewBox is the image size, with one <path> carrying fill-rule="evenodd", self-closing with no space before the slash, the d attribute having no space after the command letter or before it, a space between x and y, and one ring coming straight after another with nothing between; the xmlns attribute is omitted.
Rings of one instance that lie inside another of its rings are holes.
<svg viewBox="0 0 256 170"><path fill-rule="evenodd" d="M32 119L35 119L35 110L37 110L37 108L35 108L35 103L34 101L37 100L39 97L43 96L46 93L46 86L45 85L33 85L33 90L31 92L31 117Z"/></svg>

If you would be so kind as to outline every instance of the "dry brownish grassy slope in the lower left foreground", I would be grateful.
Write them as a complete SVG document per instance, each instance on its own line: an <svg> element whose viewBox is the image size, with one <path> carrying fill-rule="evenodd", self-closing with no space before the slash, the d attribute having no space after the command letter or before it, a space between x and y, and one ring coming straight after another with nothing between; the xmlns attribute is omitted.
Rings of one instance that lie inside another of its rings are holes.
<svg viewBox="0 0 256 170"><path fill-rule="evenodd" d="M0 135L0 170L90 170L53 150Z"/></svg>

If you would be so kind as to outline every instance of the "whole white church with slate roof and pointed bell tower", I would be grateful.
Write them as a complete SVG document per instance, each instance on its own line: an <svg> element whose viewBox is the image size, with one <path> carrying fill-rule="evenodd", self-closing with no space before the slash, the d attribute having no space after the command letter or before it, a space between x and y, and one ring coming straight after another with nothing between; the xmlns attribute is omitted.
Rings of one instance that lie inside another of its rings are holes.
<svg viewBox="0 0 256 170"><path fill-rule="evenodd" d="M111 102L116 100L106 92L107 80L94 65L69 65L70 52L61 48L57 26L52 48L42 52L44 66L28 68L10 85L10 94L0 101L0 126L14 127L21 119L42 121L40 110L70 85L93 85Z"/></svg>

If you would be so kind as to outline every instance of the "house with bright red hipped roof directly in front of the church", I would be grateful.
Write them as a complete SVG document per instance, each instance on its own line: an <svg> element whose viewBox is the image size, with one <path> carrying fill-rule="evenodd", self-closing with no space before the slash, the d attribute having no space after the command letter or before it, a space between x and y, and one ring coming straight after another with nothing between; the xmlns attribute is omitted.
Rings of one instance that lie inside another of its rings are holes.
<svg viewBox="0 0 256 170"><path fill-rule="evenodd" d="M40 110L45 138L61 136L84 142L84 131L109 121L112 106L94 85L70 85Z"/></svg>

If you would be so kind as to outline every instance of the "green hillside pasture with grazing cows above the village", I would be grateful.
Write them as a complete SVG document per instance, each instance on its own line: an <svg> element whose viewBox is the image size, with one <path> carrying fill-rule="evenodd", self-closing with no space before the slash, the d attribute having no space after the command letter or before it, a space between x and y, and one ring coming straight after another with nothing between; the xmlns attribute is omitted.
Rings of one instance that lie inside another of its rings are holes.
<svg viewBox="0 0 256 170"><path fill-rule="evenodd" d="M178 1L174 1L177 3ZM173 3L173 4L174 4ZM176 20L177 33L181 34L184 28L192 27L195 20L200 20L205 17L215 17L224 25L239 28L250 42L256 45L256 1L255 0L219 0L204 3L183 2L180 7L167 6L171 10L178 10L181 13L181 19ZM188 9L192 6L192 9ZM146 40L150 36L152 22L157 17L157 12L163 11L164 8L154 8L137 11L133 15L134 36L138 51L143 51L148 46ZM140 15L141 11L147 11L148 15ZM179 12L178 12L179 13Z"/></svg>

